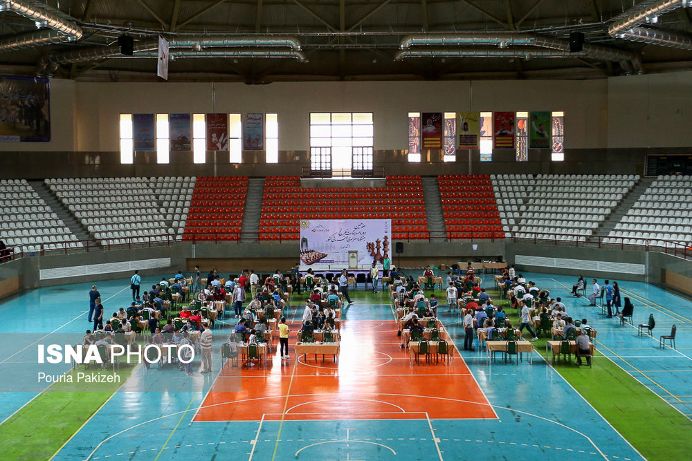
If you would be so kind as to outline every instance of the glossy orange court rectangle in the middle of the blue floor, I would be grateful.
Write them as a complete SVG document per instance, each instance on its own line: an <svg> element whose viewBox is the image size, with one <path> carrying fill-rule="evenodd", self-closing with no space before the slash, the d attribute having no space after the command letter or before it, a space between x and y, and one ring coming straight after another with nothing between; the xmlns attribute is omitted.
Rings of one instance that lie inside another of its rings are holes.
<svg viewBox="0 0 692 461"><path fill-rule="evenodd" d="M455 348L448 364L435 357L412 364L394 321L343 322L336 363L331 356L295 357L300 323L290 328L291 359L281 360L274 349L266 368L241 363L239 392L221 391L224 377L237 376L227 365L194 421L497 417Z"/></svg>

